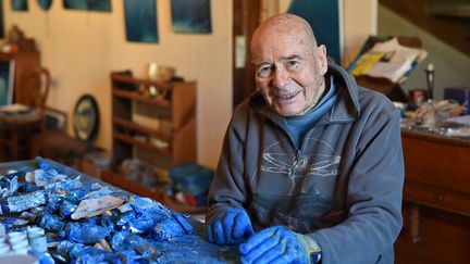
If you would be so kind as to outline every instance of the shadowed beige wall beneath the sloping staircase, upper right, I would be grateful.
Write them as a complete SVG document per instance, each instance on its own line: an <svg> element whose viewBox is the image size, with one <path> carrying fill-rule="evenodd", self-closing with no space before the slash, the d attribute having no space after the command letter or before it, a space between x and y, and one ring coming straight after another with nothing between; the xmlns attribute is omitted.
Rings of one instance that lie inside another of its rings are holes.
<svg viewBox="0 0 470 264"><path fill-rule="evenodd" d="M391 10L379 8L379 35L415 36L422 41L428 58L411 73L403 85L407 90L426 88L424 68L433 63L435 68L435 98L442 99L445 87L470 87L470 56L422 30Z"/></svg>

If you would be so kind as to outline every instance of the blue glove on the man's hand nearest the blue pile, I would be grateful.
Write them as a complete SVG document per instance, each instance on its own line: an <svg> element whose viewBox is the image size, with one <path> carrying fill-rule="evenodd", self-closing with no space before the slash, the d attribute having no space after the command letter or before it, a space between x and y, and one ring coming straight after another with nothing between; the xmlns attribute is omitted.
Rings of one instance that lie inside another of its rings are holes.
<svg viewBox="0 0 470 264"><path fill-rule="evenodd" d="M248 214L243 209L228 209L209 223L209 241L217 244L239 244L253 234Z"/></svg>

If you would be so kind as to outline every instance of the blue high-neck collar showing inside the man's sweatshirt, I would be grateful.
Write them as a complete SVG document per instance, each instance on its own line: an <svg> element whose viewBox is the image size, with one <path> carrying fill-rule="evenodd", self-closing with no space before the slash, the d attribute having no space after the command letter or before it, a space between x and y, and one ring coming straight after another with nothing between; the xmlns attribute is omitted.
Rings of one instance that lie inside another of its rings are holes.
<svg viewBox="0 0 470 264"><path fill-rule="evenodd" d="M297 149L300 149L306 134L314 126L314 124L333 108L336 102L336 87L333 81L333 76L330 78L331 85L326 95L320 102L305 115L286 117L287 127L290 131L290 137L294 140Z"/></svg>

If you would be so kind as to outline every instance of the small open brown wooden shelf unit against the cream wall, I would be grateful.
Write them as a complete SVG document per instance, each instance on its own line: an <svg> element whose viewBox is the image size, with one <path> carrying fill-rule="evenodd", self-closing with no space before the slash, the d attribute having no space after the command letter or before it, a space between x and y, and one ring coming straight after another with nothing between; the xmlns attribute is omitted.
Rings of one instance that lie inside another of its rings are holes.
<svg viewBox="0 0 470 264"><path fill-rule="evenodd" d="M161 190L119 175L126 159L151 164L157 172L196 162L196 83L161 83L111 74L113 172L104 180L138 194L161 199Z"/></svg>

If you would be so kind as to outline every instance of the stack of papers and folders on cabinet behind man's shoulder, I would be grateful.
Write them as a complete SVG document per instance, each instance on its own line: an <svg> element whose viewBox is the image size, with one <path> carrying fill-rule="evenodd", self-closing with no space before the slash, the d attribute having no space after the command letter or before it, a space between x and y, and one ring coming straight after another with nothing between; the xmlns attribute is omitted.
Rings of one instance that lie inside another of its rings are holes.
<svg viewBox="0 0 470 264"><path fill-rule="evenodd" d="M355 76L387 78L392 83L403 83L412 68L428 55L423 49L409 48L392 38L375 43L371 50L363 53L349 71Z"/></svg>

